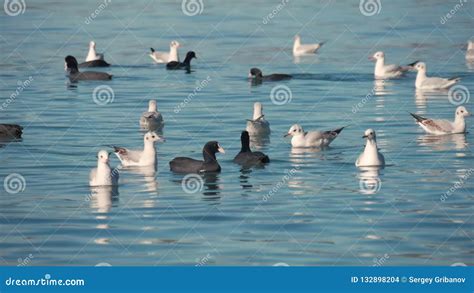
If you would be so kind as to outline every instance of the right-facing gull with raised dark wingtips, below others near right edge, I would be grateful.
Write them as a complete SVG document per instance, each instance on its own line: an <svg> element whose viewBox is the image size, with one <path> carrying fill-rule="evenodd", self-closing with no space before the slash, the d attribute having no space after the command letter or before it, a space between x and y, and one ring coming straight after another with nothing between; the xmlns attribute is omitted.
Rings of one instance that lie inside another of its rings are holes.
<svg viewBox="0 0 474 293"><path fill-rule="evenodd" d="M416 123L426 132L435 135L443 135L465 133L466 122L464 121L464 117L471 116L471 113L469 113L464 106L459 106L456 108L453 122L444 119L429 119L413 113L410 113L410 115L415 118Z"/></svg>

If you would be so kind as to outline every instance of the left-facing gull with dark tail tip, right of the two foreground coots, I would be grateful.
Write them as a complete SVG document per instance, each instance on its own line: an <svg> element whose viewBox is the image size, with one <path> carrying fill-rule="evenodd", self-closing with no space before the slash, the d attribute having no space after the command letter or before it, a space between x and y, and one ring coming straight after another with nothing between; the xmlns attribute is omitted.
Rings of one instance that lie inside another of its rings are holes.
<svg viewBox="0 0 474 293"><path fill-rule="evenodd" d="M291 126L284 136L292 136L291 145L296 148L301 147L327 147L341 133L344 127L329 131L308 131L304 132L299 124Z"/></svg>

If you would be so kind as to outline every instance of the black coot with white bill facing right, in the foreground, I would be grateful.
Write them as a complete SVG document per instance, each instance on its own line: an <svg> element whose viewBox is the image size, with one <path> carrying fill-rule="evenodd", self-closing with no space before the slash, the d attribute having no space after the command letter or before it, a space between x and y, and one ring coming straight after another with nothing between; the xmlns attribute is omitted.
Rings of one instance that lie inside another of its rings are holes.
<svg viewBox="0 0 474 293"><path fill-rule="evenodd" d="M170 170L176 173L220 172L221 166L216 159L217 152L225 153L217 141L209 141L202 149L204 160L177 157L170 161Z"/></svg>

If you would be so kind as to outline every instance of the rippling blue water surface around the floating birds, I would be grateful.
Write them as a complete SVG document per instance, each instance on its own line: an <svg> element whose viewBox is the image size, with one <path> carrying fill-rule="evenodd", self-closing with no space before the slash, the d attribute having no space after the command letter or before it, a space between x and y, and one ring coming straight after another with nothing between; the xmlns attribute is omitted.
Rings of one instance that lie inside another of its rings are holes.
<svg viewBox="0 0 474 293"><path fill-rule="evenodd" d="M423 60L429 74L460 76L472 92L474 67L464 59L472 2L442 24L457 1L382 1L374 16L358 1L290 1L277 11L278 1L204 0L196 16L179 1L112 1L87 24L101 3L27 1L23 14L0 16L2 102L32 80L0 116L24 126L21 141L0 148L1 181L23 179L14 192L0 188L1 265L474 264L472 134L425 135L407 111L452 119L448 93L416 93L414 73L380 86L367 60L378 50L389 63ZM293 58L296 33L326 42L318 56ZM173 39L182 58L196 52L191 74L147 56ZM114 78L71 85L64 57L82 61L90 40ZM254 66L297 76L251 86ZM114 92L105 105L92 98L101 85ZM272 103L277 85L289 87L290 102ZM91 191L98 150L142 146L138 120L151 98L166 123L157 172L123 169L118 191ZM254 148L271 163L241 170L232 159L256 101L272 134ZM296 122L350 126L327 150L298 151L283 138ZM369 127L382 170L354 166ZM186 193L168 162L199 158L209 140L226 149L222 172Z"/></svg>

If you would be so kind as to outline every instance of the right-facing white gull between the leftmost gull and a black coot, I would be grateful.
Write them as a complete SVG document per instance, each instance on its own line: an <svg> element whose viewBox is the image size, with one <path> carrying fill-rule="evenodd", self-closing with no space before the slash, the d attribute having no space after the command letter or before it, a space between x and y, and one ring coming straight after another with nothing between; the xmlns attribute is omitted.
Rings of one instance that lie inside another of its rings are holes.
<svg viewBox="0 0 474 293"><path fill-rule="evenodd" d="M155 142L164 142L165 139L153 131L145 133L143 137L143 150L129 150L123 147L112 146L115 155L119 158L122 166L154 166L156 165Z"/></svg>

